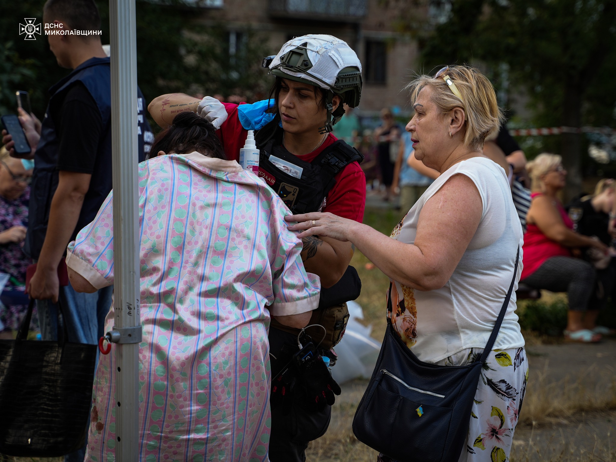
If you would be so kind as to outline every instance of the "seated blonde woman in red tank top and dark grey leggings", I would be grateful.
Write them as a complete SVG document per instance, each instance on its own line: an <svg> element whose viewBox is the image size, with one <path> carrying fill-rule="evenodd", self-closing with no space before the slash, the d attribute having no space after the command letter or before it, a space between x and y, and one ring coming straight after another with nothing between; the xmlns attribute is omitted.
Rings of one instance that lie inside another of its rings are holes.
<svg viewBox="0 0 616 462"><path fill-rule="evenodd" d="M561 156L540 154L527 164L527 170L533 192L524 235L521 283L536 289L566 291L569 313L565 338L598 342L601 334L594 329L599 310L593 301L596 271L589 262L573 257L572 249L590 247L606 254L607 246L573 231L573 222L557 198L567 176Z"/></svg>

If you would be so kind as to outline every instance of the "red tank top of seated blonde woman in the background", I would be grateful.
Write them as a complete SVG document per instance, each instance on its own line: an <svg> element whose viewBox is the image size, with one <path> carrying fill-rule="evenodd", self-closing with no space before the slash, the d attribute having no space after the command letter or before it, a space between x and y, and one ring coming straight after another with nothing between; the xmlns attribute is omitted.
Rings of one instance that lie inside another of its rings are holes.
<svg viewBox="0 0 616 462"><path fill-rule="evenodd" d="M541 195L541 193L532 193L530 197ZM569 229L573 229L573 222L569 218L567 211L558 203L558 211L561 213L562 222ZM560 245L556 241L547 237L539 227L535 224L526 225L526 234L524 235L524 268L520 280L529 277L550 257L570 257L571 252L565 246Z"/></svg>

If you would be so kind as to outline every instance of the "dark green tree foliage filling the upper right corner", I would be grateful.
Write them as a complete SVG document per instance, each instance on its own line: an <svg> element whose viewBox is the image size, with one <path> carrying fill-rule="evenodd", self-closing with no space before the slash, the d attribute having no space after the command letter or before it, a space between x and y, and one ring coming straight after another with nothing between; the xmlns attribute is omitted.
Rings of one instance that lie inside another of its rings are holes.
<svg viewBox="0 0 616 462"><path fill-rule="evenodd" d="M616 126L616 0L452 0L420 43L428 69L481 62L496 87L504 69L514 91L528 95L537 126ZM558 141L550 147L576 192L581 137Z"/></svg>

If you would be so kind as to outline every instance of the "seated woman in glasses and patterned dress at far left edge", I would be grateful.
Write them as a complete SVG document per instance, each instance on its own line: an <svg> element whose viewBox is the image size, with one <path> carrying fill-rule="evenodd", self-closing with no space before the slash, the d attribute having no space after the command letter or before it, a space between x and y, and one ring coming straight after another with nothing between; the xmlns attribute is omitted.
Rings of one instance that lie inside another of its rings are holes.
<svg viewBox="0 0 616 462"><path fill-rule="evenodd" d="M0 339L12 339L28 309L26 267L31 263L22 243L28 226L33 161L15 159L0 150ZM3 283L4 282L4 283ZM36 328L35 318L30 325Z"/></svg>

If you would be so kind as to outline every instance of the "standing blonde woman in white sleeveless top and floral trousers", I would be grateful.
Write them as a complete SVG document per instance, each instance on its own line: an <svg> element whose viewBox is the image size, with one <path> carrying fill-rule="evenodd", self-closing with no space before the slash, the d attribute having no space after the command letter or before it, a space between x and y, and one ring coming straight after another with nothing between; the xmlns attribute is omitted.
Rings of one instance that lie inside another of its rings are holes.
<svg viewBox="0 0 616 462"><path fill-rule="evenodd" d="M477 360L514 274L522 227L505 170L482 154L502 115L478 70L443 68L410 84L415 157L440 176L387 237L334 216L286 217L300 237L351 241L392 282L392 325L425 362ZM520 261L522 256L520 256ZM517 288L516 278L514 290ZM461 460L506 460L526 388L524 338L513 295L477 386ZM381 460L389 458L381 456Z"/></svg>

